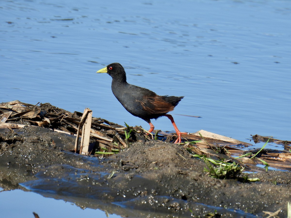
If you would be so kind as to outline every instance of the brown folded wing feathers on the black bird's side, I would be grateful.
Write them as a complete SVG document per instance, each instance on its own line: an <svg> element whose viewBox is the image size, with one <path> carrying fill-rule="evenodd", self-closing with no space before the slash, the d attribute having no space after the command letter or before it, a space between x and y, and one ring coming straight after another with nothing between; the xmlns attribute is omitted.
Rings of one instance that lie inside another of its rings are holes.
<svg viewBox="0 0 291 218"><path fill-rule="evenodd" d="M171 103L164 101L161 96L144 97L141 102L143 110L150 114L163 114L174 110L175 106Z"/></svg>

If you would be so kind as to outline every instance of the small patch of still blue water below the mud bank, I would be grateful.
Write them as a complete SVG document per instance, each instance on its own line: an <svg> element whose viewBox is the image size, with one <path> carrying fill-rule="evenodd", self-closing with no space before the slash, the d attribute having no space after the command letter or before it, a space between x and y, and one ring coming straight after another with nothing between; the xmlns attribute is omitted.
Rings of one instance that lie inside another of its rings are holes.
<svg viewBox="0 0 291 218"><path fill-rule="evenodd" d="M2 189L0 188L2 191ZM14 198L13 198L14 196ZM1 217L21 217L33 218L33 212L40 218L51 217L98 217L106 218L102 210L76 207L70 202L44 198L40 194L24 192L22 190L12 190L10 192L0 192ZM3 200L5 199L5 200ZM110 218L120 217L109 215Z"/></svg>

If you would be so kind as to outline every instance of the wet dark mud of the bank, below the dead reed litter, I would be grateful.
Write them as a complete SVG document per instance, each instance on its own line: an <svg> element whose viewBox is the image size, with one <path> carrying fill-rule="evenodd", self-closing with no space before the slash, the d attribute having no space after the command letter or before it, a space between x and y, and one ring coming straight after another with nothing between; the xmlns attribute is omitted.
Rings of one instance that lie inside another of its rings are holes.
<svg viewBox="0 0 291 218"><path fill-rule="evenodd" d="M183 145L143 141L113 156L71 152L75 136L48 128L0 129L0 186L99 208L123 217L287 217L291 173L249 174L259 182L211 178Z"/></svg>

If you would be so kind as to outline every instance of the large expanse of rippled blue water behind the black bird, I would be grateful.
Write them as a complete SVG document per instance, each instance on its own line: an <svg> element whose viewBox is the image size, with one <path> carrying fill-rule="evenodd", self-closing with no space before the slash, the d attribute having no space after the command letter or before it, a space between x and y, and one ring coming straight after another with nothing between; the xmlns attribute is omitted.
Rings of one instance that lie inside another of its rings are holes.
<svg viewBox="0 0 291 218"><path fill-rule="evenodd" d="M181 131L291 140L290 1L1 1L0 20L0 101L148 128L95 73L119 62L129 83L185 96Z"/></svg>

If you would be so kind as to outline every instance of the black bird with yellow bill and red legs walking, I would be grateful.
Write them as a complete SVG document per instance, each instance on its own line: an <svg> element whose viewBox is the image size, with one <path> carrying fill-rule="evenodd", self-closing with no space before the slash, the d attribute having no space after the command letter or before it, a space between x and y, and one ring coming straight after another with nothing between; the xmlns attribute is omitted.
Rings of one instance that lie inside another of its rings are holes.
<svg viewBox="0 0 291 218"><path fill-rule="evenodd" d="M109 64L97 73L107 73L112 77L111 89L117 100L129 113L147 121L150 124L149 132L155 128L151 119L168 117L178 135L175 143L181 143L181 134L187 133L180 132L173 117L167 113L174 110L184 97L159 96L151 90L127 83L125 70L119 63Z"/></svg>

